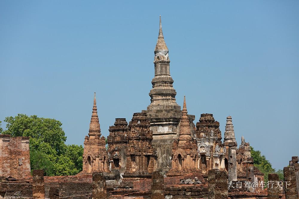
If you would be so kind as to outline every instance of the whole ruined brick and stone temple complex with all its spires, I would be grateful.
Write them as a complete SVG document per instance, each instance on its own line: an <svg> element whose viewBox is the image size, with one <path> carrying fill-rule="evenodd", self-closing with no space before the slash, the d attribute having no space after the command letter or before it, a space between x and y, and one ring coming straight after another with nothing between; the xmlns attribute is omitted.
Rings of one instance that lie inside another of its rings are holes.
<svg viewBox="0 0 299 199"><path fill-rule="evenodd" d="M226 118L222 142L213 114L200 114L194 124L195 115L188 114L185 96L181 110L168 53L160 16L147 110L134 113L129 122L116 118L105 129L109 130L106 149L94 93L83 168L75 176L43 176L42 170L31 176L29 138L0 135L0 199L299 198L298 157L292 157L290 166L284 168L289 187L269 189L269 193L262 186L252 188L263 183L264 174L254 167L244 137L238 147L232 117ZM277 176L269 174L269 179Z"/></svg>

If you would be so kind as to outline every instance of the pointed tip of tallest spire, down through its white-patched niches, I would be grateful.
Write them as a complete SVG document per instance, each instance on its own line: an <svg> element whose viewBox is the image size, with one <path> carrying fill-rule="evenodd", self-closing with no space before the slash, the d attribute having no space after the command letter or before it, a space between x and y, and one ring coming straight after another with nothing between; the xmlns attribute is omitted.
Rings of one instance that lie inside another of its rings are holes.
<svg viewBox="0 0 299 199"><path fill-rule="evenodd" d="M154 52L155 52L154 61L157 61L157 60L168 60L169 61L168 48L164 41L164 36L163 36L163 32L162 32L161 15L160 15L159 36L158 36L158 41L157 41Z"/></svg>

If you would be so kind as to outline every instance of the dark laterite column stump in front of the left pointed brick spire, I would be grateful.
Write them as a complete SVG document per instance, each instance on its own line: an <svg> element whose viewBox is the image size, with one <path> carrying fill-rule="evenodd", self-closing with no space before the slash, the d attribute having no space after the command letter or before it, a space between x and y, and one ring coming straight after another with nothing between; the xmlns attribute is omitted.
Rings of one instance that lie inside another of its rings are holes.
<svg viewBox="0 0 299 199"><path fill-rule="evenodd" d="M92 198L94 199L106 199L106 180L102 172L92 173Z"/></svg>

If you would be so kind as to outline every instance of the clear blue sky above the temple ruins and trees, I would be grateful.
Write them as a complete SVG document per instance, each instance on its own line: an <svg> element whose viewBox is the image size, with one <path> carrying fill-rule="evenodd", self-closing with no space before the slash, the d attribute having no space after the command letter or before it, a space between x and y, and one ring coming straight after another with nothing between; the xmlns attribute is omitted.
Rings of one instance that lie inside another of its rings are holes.
<svg viewBox="0 0 299 199"><path fill-rule="evenodd" d="M299 155L299 1L0 1L0 120L62 122L83 144L97 92L101 131L146 109L159 15L189 114L231 115L276 169ZM2 125L5 127L5 123Z"/></svg>

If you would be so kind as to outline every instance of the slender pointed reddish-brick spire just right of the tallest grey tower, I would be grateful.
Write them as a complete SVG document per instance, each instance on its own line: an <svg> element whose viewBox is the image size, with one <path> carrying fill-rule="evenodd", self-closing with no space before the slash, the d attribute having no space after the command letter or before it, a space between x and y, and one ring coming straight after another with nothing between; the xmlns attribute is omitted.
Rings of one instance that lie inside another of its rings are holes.
<svg viewBox="0 0 299 199"><path fill-rule="evenodd" d="M190 132L190 122L187 115L186 96L184 95L184 104L182 110L182 118L180 125L179 144L184 144L186 141L192 141Z"/></svg>

